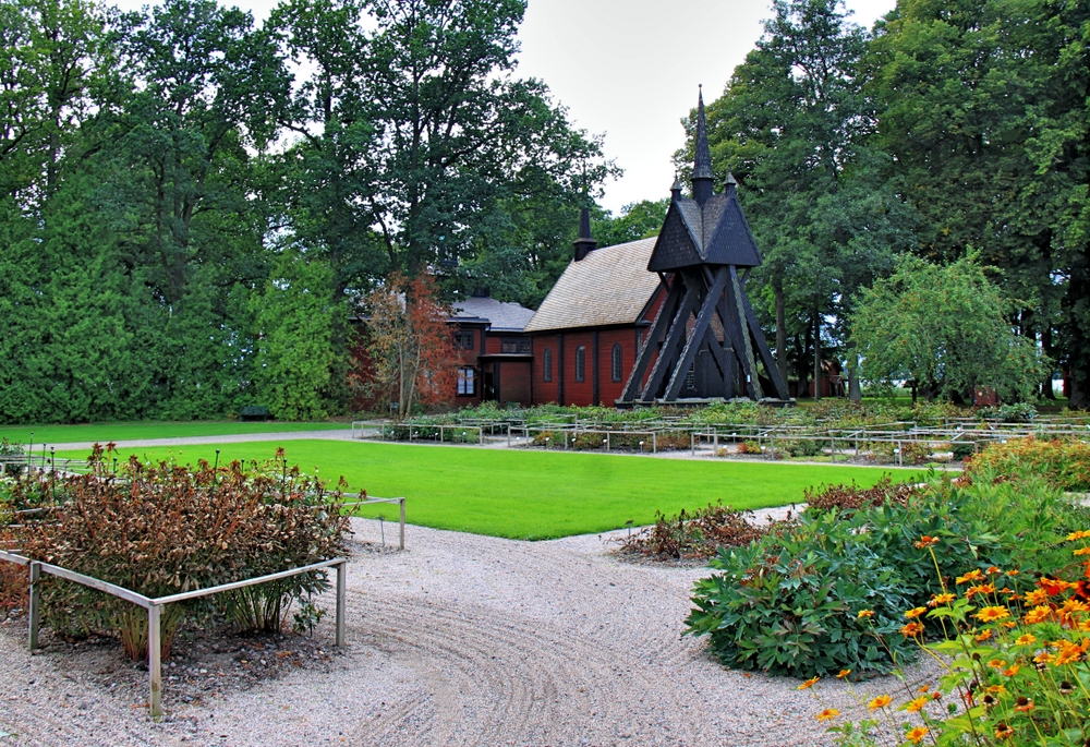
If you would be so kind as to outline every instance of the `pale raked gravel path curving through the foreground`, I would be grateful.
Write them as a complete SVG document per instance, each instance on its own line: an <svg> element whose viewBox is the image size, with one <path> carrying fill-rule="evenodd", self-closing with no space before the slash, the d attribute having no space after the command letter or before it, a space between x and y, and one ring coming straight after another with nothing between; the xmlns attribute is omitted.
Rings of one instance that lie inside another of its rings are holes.
<svg viewBox="0 0 1090 747"><path fill-rule="evenodd" d="M378 540L374 521L353 529ZM356 545L349 647L327 671L199 706L168 685L160 723L142 690L104 688L80 660L31 656L22 630L0 632L0 732L15 735L0 747L827 744L813 716L853 708L843 683L823 685L820 704L795 680L723 668L680 636L706 569L626 563L608 540L410 527L404 553ZM331 639L327 622L318 635ZM896 686L872 680L858 695Z"/></svg>

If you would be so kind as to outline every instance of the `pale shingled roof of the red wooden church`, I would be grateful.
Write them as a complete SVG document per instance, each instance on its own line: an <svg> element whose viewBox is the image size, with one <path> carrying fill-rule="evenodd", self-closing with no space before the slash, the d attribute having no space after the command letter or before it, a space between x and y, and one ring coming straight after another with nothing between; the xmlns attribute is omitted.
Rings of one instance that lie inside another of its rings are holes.
<svg viewBox="0 0 1090 747"><path fill-rule="evenodd" d="M658 275L647 272L655 241L596 249L569 264L525 332L638 322L659 285Z"/></svg>

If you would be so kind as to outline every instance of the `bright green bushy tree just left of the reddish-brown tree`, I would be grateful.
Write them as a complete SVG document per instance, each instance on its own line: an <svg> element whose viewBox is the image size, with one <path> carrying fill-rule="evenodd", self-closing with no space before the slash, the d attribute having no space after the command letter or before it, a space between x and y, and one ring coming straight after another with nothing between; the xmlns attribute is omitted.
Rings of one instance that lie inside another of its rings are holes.
<svg viewBox="0 0 1090 747"><path fill-rule="evenodd" d="M334 302L331 272L322 260L287 249L264 292L252 297L257 330L252 401L283 420L327 415Z"/></svg>

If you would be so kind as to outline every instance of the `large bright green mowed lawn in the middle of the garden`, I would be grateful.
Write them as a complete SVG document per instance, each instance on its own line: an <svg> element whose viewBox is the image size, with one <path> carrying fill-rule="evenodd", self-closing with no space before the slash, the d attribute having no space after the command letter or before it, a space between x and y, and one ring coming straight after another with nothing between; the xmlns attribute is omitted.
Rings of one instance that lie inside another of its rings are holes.
<svg viewBox="0 0 1090 747"><path fill-rule="evenodd" d="M617 529L631 520L652 523L667 515L722 501L735 508L783 506L802 499L818 483L870 486L881 468L814 465L689 461L647 457L405 446L355 442L286 441L138 449L153 459L173 455L181 462L268 459L277 446L289 463L318 469L350 491L408 498L410 523L512 539L549 539ZM69 456L85 456L69 453ZM894 470L895 479L919 478ZM397 518L396 506L366 507L362 516Z"/></svg>

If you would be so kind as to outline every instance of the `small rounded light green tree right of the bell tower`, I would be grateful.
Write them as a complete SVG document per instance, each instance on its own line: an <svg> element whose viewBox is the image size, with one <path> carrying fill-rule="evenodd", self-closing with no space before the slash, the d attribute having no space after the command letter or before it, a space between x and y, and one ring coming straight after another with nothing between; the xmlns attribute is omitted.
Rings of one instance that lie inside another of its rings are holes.
<svg viewBox="0 0 1090 747"><path fill-rule="evenodd" d="M1026 398L1041 361L1006 321L1010 305L974 253L945 266L906 255L863 292L851 336L871 381L912 378L929 400L972 401L980 387Z"/></svg>

